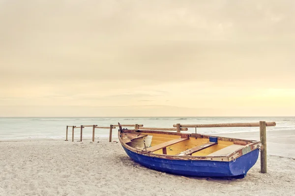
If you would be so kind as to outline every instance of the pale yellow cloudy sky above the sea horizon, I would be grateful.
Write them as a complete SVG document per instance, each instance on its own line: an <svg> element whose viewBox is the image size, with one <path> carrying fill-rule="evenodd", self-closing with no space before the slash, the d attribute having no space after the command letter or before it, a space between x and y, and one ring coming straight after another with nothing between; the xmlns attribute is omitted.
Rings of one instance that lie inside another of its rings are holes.
<svg viewBox="0 0 295 196"><path fill-rule="evenodd" d="M0 116L295 116L294 0L0 0Z"/></svg>

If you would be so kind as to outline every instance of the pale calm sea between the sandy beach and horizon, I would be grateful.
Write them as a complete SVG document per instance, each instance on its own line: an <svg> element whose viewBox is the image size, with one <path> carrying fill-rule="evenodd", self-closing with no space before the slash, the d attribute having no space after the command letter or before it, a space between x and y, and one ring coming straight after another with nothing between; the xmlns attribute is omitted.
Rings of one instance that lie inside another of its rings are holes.
<svg viewBox="0 0 295 196"><path fill-rule="evenodd" d="M215 123L255 123L259 121L276 122L267 131L295 130L295 117L1 117L0 140L13 139L65 139L66 126L97 125L109 127L120 124L143 124L151 128L173 128L174 124L215 124ZM113 130L113 138L118 138ZM202 134L235 133L259 131L259 127L245 128L189 128L189 133ZM95 129L95 138L108 138L108 129ZM83 139L92 138L92 127L83 129ZM68 140L72 139L69 128ZM75 129L74 140L80 139L80 129Z"/></svg>

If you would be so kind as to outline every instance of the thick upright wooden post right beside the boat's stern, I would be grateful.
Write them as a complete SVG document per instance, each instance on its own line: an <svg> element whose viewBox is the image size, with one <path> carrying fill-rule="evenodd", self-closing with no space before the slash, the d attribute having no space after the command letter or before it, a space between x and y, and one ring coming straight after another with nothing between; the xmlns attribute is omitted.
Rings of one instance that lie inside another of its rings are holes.
<svg viewBox="0 0 295 196"><path fill-rule="evenodd" d="M267 172L267 157L266 157L266 122L260 121L260 141L261 141L261 152L260 152L260 172Z"/></svg>

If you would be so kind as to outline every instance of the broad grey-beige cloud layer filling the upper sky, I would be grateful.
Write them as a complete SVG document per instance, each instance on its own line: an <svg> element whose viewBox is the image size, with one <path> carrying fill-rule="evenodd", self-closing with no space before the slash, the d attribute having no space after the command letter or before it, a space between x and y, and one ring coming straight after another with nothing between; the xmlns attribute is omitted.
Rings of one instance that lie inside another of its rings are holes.
<svg viewBox="0 0 295 196"><path fill-rule="evenodd" d="M236 80L261 71L270 80L295 71L288 0L7 1L2 7L2 81Z"/></svg>

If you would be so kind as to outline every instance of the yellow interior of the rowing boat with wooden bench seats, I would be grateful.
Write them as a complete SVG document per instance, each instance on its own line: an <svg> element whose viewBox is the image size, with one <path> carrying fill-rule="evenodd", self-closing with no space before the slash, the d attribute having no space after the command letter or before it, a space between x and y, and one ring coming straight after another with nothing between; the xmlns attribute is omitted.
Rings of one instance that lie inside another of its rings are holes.
<svg viewBox="0 0 295 196"><path fill-rule="evenodd" d="M228 156L257 141L166 131L132 131L119 133L126 145L159 155ZM256 147L255 147L256 148Z"/></svg>

